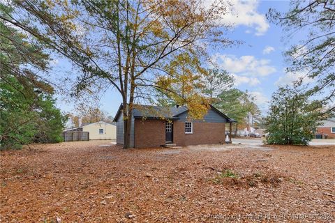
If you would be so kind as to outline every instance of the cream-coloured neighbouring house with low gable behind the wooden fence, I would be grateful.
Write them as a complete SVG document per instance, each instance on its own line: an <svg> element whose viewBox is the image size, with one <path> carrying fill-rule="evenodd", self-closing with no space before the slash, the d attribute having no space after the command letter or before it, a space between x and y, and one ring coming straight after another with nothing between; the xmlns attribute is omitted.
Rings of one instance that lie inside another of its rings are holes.
<svg viewBox="0 0 335 223"><path fill-rule="evenodd" d="M117 126L105 121L84 123L79 128L71 128L64 132L89 132L89 139L117 139Z"/></svg>

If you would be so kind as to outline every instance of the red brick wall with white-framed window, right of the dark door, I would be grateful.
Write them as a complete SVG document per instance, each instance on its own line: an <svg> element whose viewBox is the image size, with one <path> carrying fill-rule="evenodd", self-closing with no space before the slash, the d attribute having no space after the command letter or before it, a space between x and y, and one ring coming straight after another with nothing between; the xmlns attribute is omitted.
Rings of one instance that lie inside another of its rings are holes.
<svg viewBox="0 0 335 223"><path fill-rule="evenodd" d="M193 134L185 134L185 123L174 121L173 143L177 146L225 142L225 123L193 123Z"/></svg>

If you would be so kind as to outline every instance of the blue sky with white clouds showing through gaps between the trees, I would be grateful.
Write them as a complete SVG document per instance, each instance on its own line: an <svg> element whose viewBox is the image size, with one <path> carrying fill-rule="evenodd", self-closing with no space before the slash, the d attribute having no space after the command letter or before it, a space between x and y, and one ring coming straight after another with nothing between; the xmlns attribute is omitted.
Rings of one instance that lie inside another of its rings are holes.
<svg viewBox="0 0 335 223"><path fill-rule="evenodd" d="M225 21L234 26L228 37L242 40L244 44L211 52L217 65L234 75L235 87L243 91L248 90L255 96L255 102L264 113L267 112L271 93L276 91L278 85L288 84L297 77L285 74L284 71L288 64L285 63L282 53L292 43L285 40L285 33L281 27L270 24L265 17L269 8L287 11L289 4L289 1L233 0L232 13ZM57 59L53 73L57 77L57 73L69 71L70 67L70 63L64 59ZM73 112L73 103L66 102L61 95L58 98L57 106L62 111ZM110 89L100 98L101 109L114 116L121 103L121 95Z"/></svg>

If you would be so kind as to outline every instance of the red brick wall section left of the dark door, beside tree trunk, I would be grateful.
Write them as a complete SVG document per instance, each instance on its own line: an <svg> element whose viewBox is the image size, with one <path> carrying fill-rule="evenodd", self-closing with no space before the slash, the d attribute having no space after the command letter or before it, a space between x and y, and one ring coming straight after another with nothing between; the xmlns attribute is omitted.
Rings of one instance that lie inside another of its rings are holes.
<svg viewBox="0 0 335 223"><path fill-rule="evenodd" d="M155 148L165 144L165 121L135 119L135 148Z"/></svg>

